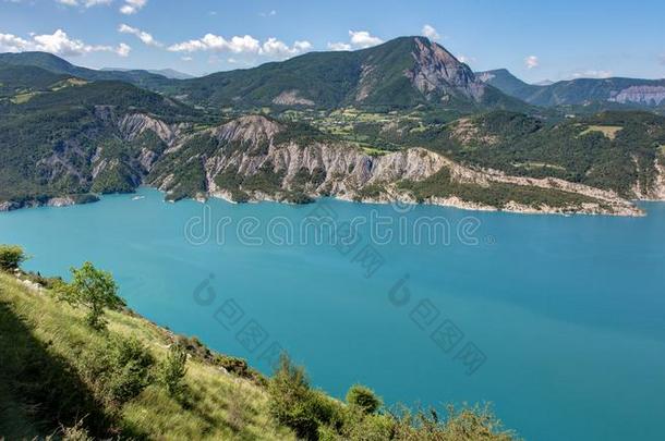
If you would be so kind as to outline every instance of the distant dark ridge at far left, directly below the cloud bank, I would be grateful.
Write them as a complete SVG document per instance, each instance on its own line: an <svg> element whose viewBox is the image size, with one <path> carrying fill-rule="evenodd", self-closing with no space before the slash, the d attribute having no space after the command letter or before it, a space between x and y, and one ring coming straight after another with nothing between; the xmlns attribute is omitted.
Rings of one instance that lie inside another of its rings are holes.
<svg viewBox="0 0 665 441"><path fill-rule="evenodd" d="M118 72L81 68L48 52L0 53L0 68L8 65L36 66L87 81L121 81L147 88L166 86L169 82L166 76L141 70Z"/></svg>

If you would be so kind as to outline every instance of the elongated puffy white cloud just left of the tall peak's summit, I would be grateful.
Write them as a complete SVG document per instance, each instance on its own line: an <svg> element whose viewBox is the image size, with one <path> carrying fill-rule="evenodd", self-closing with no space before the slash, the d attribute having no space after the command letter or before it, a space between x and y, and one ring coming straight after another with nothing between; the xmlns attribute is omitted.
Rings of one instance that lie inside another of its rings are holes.
<svg viewBox="0 0 665 441"><path fill-rule="evenodd" d="M206 34L203 38L178 42L169 46L171 52L231 52L237 54L265 56L268 58L283 59L306 52L312 49L310 41L295 41L293 46L270 37L263 44L251 35L234 36L226 39L215 34Z"/></svg>

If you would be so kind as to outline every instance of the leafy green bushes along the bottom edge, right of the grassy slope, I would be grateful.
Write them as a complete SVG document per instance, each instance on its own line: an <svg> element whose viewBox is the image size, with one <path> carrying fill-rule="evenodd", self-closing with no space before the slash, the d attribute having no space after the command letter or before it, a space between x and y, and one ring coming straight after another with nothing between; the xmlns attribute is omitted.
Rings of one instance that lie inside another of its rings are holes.
<svg viewBox="0 0 665 441"><path fill-rule="evenodd" d="M348 405L311 389L306 373L287 355L269 381L269 412L299 439L318 441L510 441L513 433L488 406L411 413L379 413L382 401L368 388L355 384L347 393Z"/></svg>

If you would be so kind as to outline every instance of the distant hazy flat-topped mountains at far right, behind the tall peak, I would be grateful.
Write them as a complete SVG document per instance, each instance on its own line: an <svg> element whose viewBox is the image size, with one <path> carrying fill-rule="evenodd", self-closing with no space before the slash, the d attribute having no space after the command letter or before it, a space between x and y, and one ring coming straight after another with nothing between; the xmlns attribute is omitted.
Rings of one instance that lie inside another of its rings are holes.
<svg viewBox="0 0 665 441"><path fill-rule="evenodd" d="M633 107L665 109L665 79L577 78L549 85L530 85L505 69L479 72L481 81L534 106Z"/></svg>

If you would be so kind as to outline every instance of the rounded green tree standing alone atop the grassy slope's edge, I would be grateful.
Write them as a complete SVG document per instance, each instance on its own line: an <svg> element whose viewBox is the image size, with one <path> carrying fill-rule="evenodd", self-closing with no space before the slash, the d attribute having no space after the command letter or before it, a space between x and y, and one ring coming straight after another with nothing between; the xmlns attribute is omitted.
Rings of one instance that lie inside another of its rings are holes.
<svg viewBox="0 0 665 441"><path fill-rule="evenodd" d="M73 305L88 308L87 323L96 330L106 328L104 310L118 309L124 301L118 296L118 285L110 272L98 270L86 261L78 269L72 268L72 281L62 284L58 291Z"/></svg>

